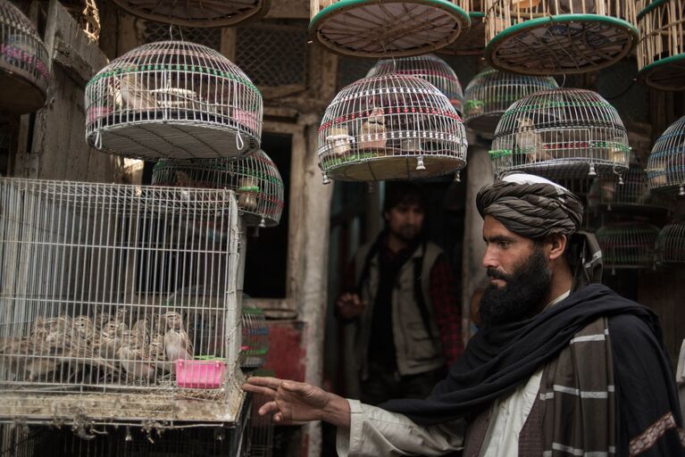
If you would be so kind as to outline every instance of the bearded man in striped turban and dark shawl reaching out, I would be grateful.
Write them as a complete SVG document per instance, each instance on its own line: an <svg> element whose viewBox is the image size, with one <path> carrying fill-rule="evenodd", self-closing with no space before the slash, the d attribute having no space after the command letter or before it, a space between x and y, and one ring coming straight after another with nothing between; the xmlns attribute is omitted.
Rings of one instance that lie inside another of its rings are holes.
<svg viewBox="0 0 685 457"><path fill-rule="evenodd" d="M582 205L514 174L477 206L490 284L480 331L424 400L372 407L305 383L250 378L277 422L338 426L339 455L677 456L681 412L656 315L598 284Z"/></svg>

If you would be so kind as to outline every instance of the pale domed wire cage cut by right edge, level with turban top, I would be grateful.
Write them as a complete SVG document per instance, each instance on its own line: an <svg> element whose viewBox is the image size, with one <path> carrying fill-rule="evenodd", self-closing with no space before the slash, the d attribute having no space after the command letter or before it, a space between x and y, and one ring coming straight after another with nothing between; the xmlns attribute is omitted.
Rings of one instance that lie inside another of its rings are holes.
<svg viewBox="0 0 685 457"><path fill-rule="evenodd" d="M685 196L685 116L656 140L647 159L649 190Z"/></svg>

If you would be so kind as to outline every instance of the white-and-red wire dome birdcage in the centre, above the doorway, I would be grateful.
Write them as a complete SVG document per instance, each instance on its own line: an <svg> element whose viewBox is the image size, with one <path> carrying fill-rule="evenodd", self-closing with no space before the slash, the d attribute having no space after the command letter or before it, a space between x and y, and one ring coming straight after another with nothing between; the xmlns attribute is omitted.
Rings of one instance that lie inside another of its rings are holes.
<svg viewBox="0 0 685 457"><path fill-rule="evenodd" d="M420 179L466 164L464 125L447 96L397 74L344 87L323 114L319 166L328 178Z"/></svg>

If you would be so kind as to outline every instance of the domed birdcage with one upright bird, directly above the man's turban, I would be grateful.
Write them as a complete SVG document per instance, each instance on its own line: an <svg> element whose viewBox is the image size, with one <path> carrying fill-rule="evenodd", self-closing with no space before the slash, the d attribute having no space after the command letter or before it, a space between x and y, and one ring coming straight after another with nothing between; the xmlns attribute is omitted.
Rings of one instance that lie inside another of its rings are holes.
<svg viewBox="0 0 685 457"><path fill-rule="evenodd" d="M628 133L614 106L584 89L545 90L514 102L497 124L490 158L497 174L547 178L621 175Z"/></svg>

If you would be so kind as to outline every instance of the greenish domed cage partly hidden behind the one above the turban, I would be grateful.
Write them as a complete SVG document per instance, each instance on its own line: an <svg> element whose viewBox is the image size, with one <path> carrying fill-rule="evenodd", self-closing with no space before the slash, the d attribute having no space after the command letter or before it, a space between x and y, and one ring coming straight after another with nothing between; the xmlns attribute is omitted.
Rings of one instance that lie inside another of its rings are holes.
<svg viewBox="0 0 685 457"><path fill-rule="evenodd" d="M558 87L556 80L549 76L515 75L493 69L480 71L464 91L464 123L469 129L492 135L502 114L515 101Z"/></svg>

